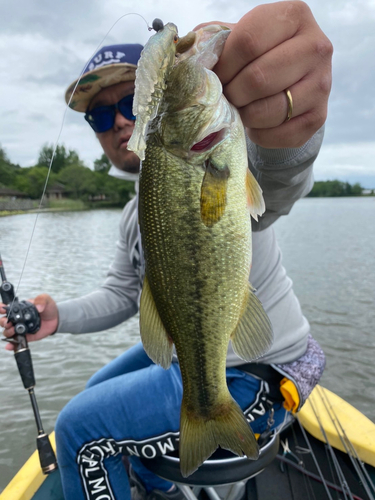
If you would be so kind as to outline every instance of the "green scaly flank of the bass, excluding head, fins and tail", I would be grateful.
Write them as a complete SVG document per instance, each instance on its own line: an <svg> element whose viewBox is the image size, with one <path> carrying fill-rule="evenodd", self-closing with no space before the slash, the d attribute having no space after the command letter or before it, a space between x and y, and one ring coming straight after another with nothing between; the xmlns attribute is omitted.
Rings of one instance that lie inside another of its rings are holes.
<svg viewBox="0 0 375 500"><path fill-rule="evenodd" d="M238 284L245 289L248 283L251 239L243 225L249 225L250 219L245 196L238 196L245 179L240 185L235 177L228 183L231 209L209 228L200 215L203 169L186 168L184 161L166 154L161 146L148 146L148 154L152 163L147 163L147 157L143 163L140 197L147 276L163 324L176 345L184 392L196 410L207 415L210 402L220 388L226 388L223 367L242 306ZM159 164L163 164L160 170Z"/></svg>

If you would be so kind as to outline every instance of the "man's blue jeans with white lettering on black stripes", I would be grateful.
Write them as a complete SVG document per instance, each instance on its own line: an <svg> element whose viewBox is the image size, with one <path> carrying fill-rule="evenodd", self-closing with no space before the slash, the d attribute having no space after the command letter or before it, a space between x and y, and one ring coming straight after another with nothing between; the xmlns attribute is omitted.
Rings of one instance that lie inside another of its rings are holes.
<svg viewBox="0 0 375 500"><path fill-rule="evenodd" d="M236 368L227 369L230 393L245 411L260 389L260 381ZM182 381L173 363L164 370L137 344L99 370L87 388L61 411L56 422L57 458L65 500L130 500L122 454L148 491L167 491L171 483L155 476L138 457L152 458L171 450L179 431ZM285 410L274 407L274 426ZM251 424L267 428L265 413Z"/></svg>

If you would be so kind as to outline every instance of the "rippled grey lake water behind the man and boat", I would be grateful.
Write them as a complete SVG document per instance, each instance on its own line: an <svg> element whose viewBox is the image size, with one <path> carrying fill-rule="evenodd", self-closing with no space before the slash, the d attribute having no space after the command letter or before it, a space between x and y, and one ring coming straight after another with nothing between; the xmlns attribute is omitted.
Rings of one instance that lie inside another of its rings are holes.
<svg viewBox="0 0 375 500"><path fill-rule="evenodd" d="M57 301L103 281L120 210L45 213L38 218L20 299ZM0 218L0 252L17 285L35 214ZM375 421L375 198L307 198L275 224L283 262L327 356L322 385ZM30 344L35 393L46 431L101 366L139 340L138 317L92 335L55 335ZM13 354L0 351L0 491L35 449L36 428Z"/></svg>

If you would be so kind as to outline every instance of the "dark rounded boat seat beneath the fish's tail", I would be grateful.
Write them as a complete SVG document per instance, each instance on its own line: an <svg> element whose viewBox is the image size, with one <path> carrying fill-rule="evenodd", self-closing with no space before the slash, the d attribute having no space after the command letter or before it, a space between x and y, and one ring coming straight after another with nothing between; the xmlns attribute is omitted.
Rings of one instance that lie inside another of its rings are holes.
<svg viewBox="0 0 375 500"><path fill-rule="evenodd" d="M197 500L202 489L211 500L238 500L245 491L246 481L262 472L274 460L279 450L279 440L279 434L273 432L267 442L260 446L258 460L238 457L227 450L218 449L189 477L181 475L178 451L151 460L141 460L154 474L178 484L187 500ZM223 488L226 485L231 486ZM219 496L220 489L225 491L224 497Z"/></svg>

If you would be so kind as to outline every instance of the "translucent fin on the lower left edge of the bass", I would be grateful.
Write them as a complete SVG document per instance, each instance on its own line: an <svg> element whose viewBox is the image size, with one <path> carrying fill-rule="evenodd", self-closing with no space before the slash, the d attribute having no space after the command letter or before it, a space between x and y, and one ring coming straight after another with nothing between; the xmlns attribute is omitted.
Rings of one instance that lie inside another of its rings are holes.
<svg viewBox="0 0 375 500"><path fill-rule="evenodd" d="M139 327L147 355L154 363L169 368L172 362L173 340L168 335L156 309L147 277L143 281Z"/></svg>

